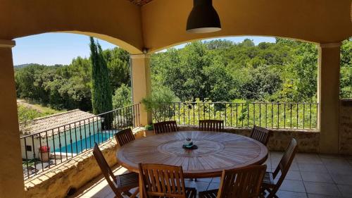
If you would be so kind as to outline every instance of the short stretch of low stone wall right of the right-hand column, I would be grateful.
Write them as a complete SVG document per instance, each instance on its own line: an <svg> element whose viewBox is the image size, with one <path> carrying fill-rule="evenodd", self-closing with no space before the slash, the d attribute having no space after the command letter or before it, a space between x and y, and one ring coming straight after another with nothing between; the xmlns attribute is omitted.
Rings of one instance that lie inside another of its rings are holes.
<svg viewBox="0 0 352 198"><path fill-rule="evenodd" d="M352 154L352 99L341 99L339 114L339 153Z"/></svg>

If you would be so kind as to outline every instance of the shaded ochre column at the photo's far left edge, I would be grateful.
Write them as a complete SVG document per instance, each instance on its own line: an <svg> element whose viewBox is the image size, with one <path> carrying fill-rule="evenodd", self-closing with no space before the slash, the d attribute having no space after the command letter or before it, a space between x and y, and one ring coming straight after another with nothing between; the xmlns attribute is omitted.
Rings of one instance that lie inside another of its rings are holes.
<svg viewBox="0 0 352 198"><path fill-rule="evenodd" d="M0 197L25 197L11 47L0 40Z"/></svg>

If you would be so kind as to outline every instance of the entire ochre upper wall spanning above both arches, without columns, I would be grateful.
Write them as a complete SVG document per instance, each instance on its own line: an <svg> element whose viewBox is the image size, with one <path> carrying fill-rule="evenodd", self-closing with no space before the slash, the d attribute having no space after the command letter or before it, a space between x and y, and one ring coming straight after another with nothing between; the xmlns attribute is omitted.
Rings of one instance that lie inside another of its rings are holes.
<svg viewBox="0 0 352 198"><path fill-rule="evenodd" d="M263 35L316 43L352 36L351 0L214 0L222 30L185 31L191 0L0 0L0 39L43 32L75 32L106 39L131 54L208 37Z"/></svg>

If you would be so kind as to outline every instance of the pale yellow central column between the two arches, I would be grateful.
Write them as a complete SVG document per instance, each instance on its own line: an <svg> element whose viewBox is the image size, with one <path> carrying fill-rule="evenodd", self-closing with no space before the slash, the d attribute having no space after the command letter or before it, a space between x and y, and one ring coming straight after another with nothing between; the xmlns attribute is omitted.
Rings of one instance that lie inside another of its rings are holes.
<svg viewBox="0 0 352 198"><path fill-rule="evenodd" d="M132 101L137 104L151 94L150 56L149 54L137 54L130 57ZM144 105L139 106L139 118L142 126L151 123L151 115L145 110Z"/></svg>

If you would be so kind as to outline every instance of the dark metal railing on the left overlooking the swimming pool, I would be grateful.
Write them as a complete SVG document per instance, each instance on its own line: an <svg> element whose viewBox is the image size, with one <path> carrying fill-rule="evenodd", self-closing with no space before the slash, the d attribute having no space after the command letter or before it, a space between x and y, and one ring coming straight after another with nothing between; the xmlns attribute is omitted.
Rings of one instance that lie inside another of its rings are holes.
<svg viewBox="0 0 352 198"><path fill-rule="evenodd" d="M139 104L134 104L20 137L25 179L84 153L94 142L111 140L123 128L139 125Z"/></svg>

